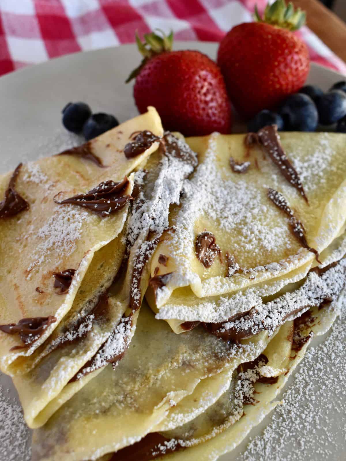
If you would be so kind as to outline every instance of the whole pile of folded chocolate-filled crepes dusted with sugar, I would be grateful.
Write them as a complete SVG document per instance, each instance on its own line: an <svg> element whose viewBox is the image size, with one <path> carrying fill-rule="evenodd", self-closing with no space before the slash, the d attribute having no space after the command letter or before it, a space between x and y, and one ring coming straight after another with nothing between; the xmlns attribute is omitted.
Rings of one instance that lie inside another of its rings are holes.
<svg viewBox="0 0 346 461"><path fill-rule="evenodd" d="M0 365L32 459L232 450L342 307L345 148L184 139L149 107L1 177Z"/></svg>

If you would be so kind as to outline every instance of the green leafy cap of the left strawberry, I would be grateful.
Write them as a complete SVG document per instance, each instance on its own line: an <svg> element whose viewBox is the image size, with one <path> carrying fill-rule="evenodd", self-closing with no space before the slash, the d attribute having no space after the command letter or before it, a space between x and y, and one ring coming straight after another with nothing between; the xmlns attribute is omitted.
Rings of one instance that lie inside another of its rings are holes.
<svg viewBox="0 0 346 461"><path fill-rule="evenodd" d="M132 80L132 78L136 78L139 72L141 71L142 67L149 61L149 59L161 53L172 51L173 30L171 30L169 35L166 35L161 29L155 30L160 32L161 35L155 34L155 32L151 32L150 34L144 34L143 42L139 38L136 31L136 43L138 51L142 54L143 59L140 65L131 72L125 83L129 83Z"/></svg>

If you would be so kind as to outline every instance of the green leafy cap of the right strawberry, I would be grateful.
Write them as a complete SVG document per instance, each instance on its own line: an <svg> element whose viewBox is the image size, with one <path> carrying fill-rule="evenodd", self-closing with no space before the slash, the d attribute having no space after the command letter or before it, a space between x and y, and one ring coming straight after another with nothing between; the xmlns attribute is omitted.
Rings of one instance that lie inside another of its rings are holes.
<svg viewBox="0 0 346 461"><path fill-rule="evenodd" d="M271 24L288 30L298 30L305 24L306 13L300 8L294 10L292 2L286 5L285 0L275 0L272 5L267 4L262 18L256 5L254 19L259 23Z"/></svg>

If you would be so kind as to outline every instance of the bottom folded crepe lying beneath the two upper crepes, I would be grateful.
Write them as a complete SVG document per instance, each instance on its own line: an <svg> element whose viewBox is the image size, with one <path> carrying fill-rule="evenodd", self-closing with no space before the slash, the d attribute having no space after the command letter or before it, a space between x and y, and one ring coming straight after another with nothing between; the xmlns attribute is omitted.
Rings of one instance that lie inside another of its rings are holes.
<svg viewBox="0 0 346 461"><path fill-rule="evenodd" d="M206 444L221 437L220 449L213 442L203 454L203 459L216 459L274 408L271 400L301 359L297 353L311 331L322 334L333 323L345 280L345 258L311 271L304 284L231 325L247 329L247 339L239 337L238 344L222 336L224 331L215 335L202 325L176 335L142 307L117 368L105 368L34 431L33 460L98 459L112 450L117 451L114 460L192 456L194 450L201 456ZM248 411L249 403L256 411ZM148 433L154 435L148 439ZM230 440L227 449L223 433Z"/></svg>

